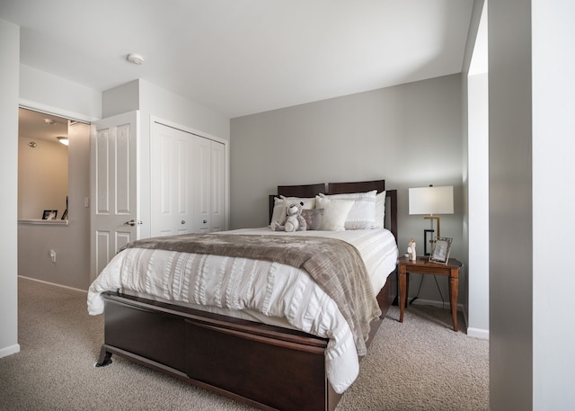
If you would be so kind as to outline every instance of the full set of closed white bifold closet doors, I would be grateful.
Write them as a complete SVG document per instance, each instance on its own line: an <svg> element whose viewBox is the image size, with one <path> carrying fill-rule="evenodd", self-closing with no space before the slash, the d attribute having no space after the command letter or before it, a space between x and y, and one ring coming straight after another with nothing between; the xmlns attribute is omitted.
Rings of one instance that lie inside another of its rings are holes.
<svg viewBox="0 0 575 411"><path fill-rule="evenodd" d="M152 237L226 229L223 143L152 122Z"/></svg>

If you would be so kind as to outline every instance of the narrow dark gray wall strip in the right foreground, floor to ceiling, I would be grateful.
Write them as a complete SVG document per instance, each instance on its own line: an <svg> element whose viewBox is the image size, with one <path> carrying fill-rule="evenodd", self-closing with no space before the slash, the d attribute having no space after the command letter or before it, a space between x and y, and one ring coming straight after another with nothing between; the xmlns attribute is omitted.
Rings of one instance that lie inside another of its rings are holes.
<svg viewBox="0 0 575 411"><path fill-rule="evenodd" d="M492 411L533 395L531 7L504 3L489 3Z"/></svg>

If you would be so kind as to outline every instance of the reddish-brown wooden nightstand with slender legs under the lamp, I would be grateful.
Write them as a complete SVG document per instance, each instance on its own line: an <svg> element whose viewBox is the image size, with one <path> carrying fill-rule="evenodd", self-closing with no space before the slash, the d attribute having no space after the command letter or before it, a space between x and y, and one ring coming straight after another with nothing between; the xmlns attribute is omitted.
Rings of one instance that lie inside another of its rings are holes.
<svg viewBox="0 0 575 411"><path fill-rule="evenodd" d="M430 263L429 257L417 257L410 261L407 257L397 260L399 273L399 322L403 323L403 313L407 307L407 291L409 290L410 277L408 273L446 275L449 277L449 303L451 305L451 317L453 318L453 330L457 331L457 293L459 290L459 268L462 264L455 258L450 258L447 264Z"/></svg>

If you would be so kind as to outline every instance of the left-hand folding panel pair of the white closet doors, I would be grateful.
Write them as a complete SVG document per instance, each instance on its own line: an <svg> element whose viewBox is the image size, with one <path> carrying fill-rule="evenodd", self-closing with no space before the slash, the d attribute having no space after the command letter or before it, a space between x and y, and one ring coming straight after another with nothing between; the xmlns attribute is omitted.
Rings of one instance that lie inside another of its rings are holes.
<svg viewBox="0 0 575 411"><path fill-rule="evenodd" d="M151 207L152 237L192 231L193 138L182 130L152 122Z"/></svg>

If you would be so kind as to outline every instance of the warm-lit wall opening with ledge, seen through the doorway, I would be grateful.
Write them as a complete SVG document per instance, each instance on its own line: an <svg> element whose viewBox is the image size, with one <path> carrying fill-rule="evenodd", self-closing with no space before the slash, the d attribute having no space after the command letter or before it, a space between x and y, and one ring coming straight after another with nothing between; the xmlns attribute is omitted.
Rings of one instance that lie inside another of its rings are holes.
<svg viewBox="0 0 575 411"><path fill-rule="evenodd" d="M23 108L18 119L18 219L67 219L69 121Z"/></svg>

